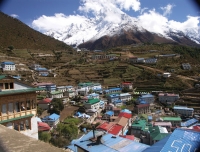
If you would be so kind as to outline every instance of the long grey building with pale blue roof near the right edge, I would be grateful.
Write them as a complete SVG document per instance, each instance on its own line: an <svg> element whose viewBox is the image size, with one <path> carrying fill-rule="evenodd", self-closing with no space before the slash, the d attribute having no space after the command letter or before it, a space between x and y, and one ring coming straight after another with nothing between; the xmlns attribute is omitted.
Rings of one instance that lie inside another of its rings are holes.
<svg viewBox="0 0 200 152"><path fill-rule="evenodd" d="M173 110L175 114L186 117L192 117L194 112L193 108L188 108L186 106L174 106Z"/></svg>

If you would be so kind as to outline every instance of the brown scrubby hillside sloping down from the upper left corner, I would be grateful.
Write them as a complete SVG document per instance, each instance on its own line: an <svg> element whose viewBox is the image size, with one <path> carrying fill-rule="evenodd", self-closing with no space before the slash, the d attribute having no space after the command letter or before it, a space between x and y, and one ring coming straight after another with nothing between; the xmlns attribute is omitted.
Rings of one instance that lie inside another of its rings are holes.
<svg viewBox="0 0 200 152"><path fill-rule="evenodd" d="M46 36L18 19L0 12L0 49L13 46L18 49L66 50L64 42Z"/></svg>

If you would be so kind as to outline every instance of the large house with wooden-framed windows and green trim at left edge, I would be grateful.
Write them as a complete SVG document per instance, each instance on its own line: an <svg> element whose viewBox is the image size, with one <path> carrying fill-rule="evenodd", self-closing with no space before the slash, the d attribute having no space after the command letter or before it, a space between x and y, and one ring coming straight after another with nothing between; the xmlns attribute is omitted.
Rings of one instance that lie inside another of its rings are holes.
<svg viewBox="0 0 200 152"><path fill-rule="evenodd" d="M0 75L0 124L38 139L36 91L39 88Z"/></svg>

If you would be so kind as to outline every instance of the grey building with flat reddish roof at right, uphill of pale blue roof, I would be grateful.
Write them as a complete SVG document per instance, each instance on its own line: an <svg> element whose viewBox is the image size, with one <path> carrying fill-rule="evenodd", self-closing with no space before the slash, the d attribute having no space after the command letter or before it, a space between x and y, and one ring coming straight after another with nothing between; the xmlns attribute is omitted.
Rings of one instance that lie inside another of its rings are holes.
<svg viewBox="0 0 200 152"><path fill-rule="evenodd" d="M179 94L174 93L159 93L158 101L164 104L172 104L179 99Z"/></svg>

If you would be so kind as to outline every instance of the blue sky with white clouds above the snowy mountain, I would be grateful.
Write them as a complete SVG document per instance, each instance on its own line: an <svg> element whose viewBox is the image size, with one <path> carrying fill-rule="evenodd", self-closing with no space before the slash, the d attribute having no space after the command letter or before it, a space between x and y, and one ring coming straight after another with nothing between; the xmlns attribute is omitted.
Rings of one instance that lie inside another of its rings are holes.
<svg viewBox="0 0 200 152"><path fill-rule="evenodd" d="M120 10L137 18L150 31L159 30L164 25L185 30L199 27L200 9L192 1L5 0L0 10L41 32L63 28L65 23L79 20L80 16L93 17L105 8L112 8L112 13L107 14L108 19Z"/></svg>

